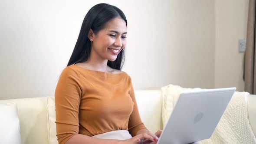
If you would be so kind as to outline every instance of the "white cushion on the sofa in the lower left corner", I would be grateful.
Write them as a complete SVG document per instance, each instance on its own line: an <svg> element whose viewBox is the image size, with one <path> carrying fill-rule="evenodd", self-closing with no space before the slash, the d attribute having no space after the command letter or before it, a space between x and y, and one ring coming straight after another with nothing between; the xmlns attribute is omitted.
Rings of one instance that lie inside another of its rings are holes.
<svg viewBox="0 0 256 144"><path fill-rule="evenodd" d="M0 104L0 143L20 144L20 120L17 104Z"/></svg>

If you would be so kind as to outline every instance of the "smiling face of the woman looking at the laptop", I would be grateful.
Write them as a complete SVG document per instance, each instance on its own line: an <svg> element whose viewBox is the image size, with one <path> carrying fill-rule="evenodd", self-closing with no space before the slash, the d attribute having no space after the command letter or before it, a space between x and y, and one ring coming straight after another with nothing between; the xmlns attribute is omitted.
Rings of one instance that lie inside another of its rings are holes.
<svg viewBox="0 0 256 144"><path fill-rule="evenodd" d="M105 28L96 35L89 36L92 39L92 52L102 59L115 61L118 54L126 45L127 28L121 18L115 18L106 23ZM92 53L91 53L92 55Z"/></svg>

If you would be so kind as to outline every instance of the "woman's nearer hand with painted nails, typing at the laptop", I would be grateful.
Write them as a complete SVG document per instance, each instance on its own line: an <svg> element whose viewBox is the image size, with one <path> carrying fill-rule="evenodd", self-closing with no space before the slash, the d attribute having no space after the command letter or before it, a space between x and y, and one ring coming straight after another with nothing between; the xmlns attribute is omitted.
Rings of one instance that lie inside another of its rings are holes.
<svg viewBox="0 0 256 144"><path fill-rule="evenodd" d="M138 134L135 137L132 137L128 140L123 140L120 144L149 144L152 141L157 142L158 137L151 132L144 132L144 133Z"/></svg>

